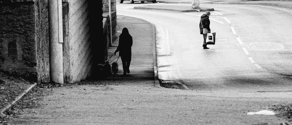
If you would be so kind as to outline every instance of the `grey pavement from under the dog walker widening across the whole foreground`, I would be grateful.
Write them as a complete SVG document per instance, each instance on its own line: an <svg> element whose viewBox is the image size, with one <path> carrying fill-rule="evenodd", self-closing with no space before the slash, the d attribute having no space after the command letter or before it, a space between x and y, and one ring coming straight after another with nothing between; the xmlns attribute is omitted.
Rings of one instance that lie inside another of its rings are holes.
<svg viewBox="0 0 292 125"><path fill-rule="evenodd" d="M131 73L112 80L83 81L84 85L58 87L41 106L23 109L9 124L21 125L277 125L275 116L246 113L267 108L271 98L289 100L285 93L230 93L167 89L154 84L153 26L141 19L118 16L118 31L133 37ZM117 45L117 41L114 42ZM110 54L116 47L110 47ZM118 62L121 65L121 62ZM285 96L286 95L286 96ZM268 98L271 97L271 98ZM285 99L283 99L285 98ZM286 99L287 98L287 99Z"/></svg>

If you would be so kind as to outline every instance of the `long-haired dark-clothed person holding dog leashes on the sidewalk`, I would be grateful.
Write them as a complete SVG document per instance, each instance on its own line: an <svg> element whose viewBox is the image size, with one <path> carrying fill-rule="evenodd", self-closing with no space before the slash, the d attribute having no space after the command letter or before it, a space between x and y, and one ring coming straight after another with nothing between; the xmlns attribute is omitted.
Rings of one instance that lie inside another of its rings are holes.
<svg viewBox="0 0 292 125"><path fill-rule="evenodd" d="M131 63L132 45L133 45L132 36L129 34L129 31L127 28L123 28L123 31L121 35L119 36L119 45L114 52L114 54L116 54L118 51L120 51L119 56L121 57L122 63L123 63L123 70L124 70L123 75L127 75L127 73L130 73L129 67Z"/></svg>

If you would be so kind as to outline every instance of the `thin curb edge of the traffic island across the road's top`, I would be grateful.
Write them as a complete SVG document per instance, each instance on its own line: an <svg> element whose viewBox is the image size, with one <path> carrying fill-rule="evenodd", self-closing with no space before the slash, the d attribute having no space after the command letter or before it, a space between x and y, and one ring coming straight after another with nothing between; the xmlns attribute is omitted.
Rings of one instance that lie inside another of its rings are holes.
<svg viewBox="0 0 292 125"><path fill-rule="evenodd" d="M175 9L149 8L149 7L140 7L140 6L135 6L133 9L141 9L141 10L162 10L162 11L175 11L175 12L201 12L201 11L215 11L214 8L207 8L207 9L192 9L192 10L175 10Z"/></svg>

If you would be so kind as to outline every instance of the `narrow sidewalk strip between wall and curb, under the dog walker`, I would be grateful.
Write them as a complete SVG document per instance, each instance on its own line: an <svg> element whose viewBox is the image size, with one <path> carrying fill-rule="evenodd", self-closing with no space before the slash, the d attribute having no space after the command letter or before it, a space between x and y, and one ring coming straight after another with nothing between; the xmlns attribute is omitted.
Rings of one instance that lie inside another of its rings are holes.
<svg viewBox="0 0 292 125"><path fill-rule="evenodd" d="M128 28L130 35L133 37L132 61L130 64L130 74L123 76L123 65L121 58L118 60L119 71L117 75L112 75L108 79L114 80L154 80L154 56L155 56L155 28L149 22L131 18L127 16L117 17L117 36L122 33L123 28ZM112 47L108 50L109 57L114 53L118 44L117 38ZM110 59L110 62L118 57ZM156 61L156 60L155 60Z"/></svg>

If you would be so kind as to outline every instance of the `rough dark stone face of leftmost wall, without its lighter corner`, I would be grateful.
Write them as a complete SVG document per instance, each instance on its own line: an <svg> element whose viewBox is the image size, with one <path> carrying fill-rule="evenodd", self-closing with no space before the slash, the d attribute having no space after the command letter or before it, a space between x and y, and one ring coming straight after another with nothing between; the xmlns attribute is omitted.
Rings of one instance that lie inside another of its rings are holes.
<svg viewBox="0 0 292 125"><path fill-rule="evenodd" d="M0 70L37 81L34 2L0 5Z"/></svg>

